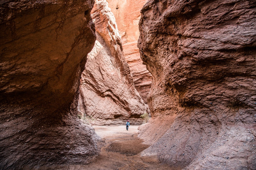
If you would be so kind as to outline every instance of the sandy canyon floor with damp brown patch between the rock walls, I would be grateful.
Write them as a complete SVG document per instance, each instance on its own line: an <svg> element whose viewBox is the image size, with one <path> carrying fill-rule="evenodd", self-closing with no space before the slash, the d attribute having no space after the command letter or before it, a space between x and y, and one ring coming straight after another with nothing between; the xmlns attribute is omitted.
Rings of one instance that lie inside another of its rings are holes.
<svg viewBox="0 0 256 170"><path fill-rule="evenodd" d="M103 138L101 153L88 165L59 165L41 167L40 170L170 170L156 157L142 157L149 147L137 137L138 126L97 126L95 132Z"/></svg>

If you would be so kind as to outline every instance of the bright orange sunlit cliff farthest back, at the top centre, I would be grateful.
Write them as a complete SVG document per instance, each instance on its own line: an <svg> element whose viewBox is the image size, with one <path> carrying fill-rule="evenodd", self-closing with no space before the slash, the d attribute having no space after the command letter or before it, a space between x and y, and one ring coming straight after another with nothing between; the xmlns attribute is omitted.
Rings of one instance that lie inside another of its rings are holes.
<svg viewBox="0 0 256 170"><path fill-rule="evenodd" d="M135 88L143 101L147 103L147 96L151 88L152 76L146 66L142 64L137 42L139 38L140 10L147 0L107 0L114 13L118 30L122 35L123 53L127 61Z"/></svg>

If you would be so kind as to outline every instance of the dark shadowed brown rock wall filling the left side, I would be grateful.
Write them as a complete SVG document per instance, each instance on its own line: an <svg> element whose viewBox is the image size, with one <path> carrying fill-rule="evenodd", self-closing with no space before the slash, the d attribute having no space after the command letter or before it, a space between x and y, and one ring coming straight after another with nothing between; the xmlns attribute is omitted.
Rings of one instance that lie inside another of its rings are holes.
<svg viewBox="0 0 256 170"><path fill-rule="evenodd" d="M77 118L95 42L93 0L1 0L0 169L87 163L99 149Z"/></svg>

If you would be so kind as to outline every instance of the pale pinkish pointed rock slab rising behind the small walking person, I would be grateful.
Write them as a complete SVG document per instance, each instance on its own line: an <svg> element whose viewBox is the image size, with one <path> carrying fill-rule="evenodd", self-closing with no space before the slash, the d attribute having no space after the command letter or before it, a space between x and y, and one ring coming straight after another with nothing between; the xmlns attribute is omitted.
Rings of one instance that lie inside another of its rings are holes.
<svg viewBox="0 0 256 170"><path fill-rule="evenodd" d="M149 112L133 85L123 57L121 36L106 0L96 0L92 10L97 40L82 74L78 110L94 125L142 123Z"/></svg>

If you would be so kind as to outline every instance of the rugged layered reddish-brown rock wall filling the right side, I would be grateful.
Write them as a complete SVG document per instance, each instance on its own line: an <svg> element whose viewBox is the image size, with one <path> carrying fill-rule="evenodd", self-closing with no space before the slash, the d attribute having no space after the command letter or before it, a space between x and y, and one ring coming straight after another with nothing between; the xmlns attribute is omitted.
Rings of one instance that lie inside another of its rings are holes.
<svg viewBox="0 0 256 170"><path fill-rule="evenodd" d="M254 0L149 0L138 47L152 73L140 136L174 169L256 167Z"/></svg>

